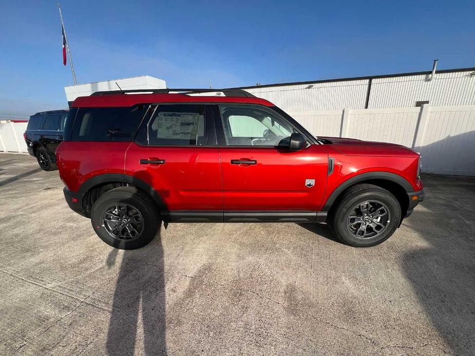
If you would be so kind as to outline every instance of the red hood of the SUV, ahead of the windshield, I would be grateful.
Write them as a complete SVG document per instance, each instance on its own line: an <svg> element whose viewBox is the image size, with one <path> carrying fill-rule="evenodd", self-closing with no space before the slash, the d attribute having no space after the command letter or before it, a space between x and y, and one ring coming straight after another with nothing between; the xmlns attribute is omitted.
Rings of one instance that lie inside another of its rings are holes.
<svg viewBox="0 0 475 356"><path fill-rule="evenodd" d="M417 152L403 146L386 142L361 141L345 137L319 137L331 142L331 146L347 156L417 156Z"/></svg>

